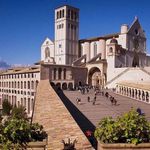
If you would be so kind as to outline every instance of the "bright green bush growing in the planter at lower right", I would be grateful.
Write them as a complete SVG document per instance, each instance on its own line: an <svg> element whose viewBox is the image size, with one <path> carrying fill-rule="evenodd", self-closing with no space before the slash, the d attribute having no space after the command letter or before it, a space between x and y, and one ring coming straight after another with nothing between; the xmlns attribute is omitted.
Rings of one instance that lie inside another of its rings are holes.
<svg viewBox="0 0 150 150"><path fill-rule="evenodd" d="M150 142L150 123L132 109L116 120L103 118L94 136L104 143L146 143Z"/></svg>

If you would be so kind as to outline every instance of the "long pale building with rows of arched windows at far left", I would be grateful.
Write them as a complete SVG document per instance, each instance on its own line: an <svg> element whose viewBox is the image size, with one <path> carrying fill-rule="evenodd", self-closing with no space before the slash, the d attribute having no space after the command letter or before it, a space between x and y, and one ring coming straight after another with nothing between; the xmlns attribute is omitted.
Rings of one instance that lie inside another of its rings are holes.
<svg viewBox="0 0 150 150"><path fill-rule="evenodd" d="M6 99L13 106L24 106L31 117L39 81L39 66L12 68L0 72L0 108L2 109L2 101Z"/></svg>

